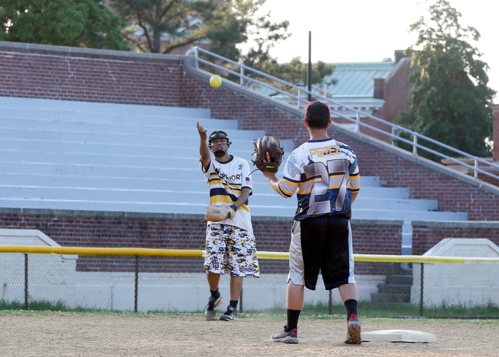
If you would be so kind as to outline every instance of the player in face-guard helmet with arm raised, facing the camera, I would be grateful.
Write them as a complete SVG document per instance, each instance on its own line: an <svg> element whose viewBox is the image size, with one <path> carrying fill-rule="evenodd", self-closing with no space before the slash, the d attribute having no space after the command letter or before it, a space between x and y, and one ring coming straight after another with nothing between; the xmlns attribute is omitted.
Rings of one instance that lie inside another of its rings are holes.
<svg viewBox="0 0 499 357"><path fill-rule="evenodd" d="M210 189L210 204L229 205L235 211L233 218L208 221L206 226L204 268L211 296L204 315L207 320L216 319L218 307L222 302L222 295L218 291L220 274L229 273L230 301L227 310L219 319L236 321L243 277L260 276L248 207L248 197L252 193L250 166L245 159L229 155L231 142L224 131L213 131L207 143L207 130L199 122L197 129L201 154L199 166Z"/></svg>

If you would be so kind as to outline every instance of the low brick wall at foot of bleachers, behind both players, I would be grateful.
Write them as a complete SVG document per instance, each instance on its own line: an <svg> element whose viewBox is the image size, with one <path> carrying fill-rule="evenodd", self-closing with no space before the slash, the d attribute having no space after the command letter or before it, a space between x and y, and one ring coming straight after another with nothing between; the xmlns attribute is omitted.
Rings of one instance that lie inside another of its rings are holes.
<svg viewBox="0 0 499 357"><path fill-rule="evenodd" d="M119 212L58 211L46 209L0 209L0 226L37 229L62 246L137 247L156 249L205 248L206 222L202 215ZM292 217L253 217L258 250L287 252ZM354 251L364 254L399 254L402 221L352 220ZM141 257L140 271L202 272L200 258ZM181 261L181 263L180 263ZM285 271L287 261L266 264L262 272ZM133 271L131 256L79 256L78 271Z"/></svg>

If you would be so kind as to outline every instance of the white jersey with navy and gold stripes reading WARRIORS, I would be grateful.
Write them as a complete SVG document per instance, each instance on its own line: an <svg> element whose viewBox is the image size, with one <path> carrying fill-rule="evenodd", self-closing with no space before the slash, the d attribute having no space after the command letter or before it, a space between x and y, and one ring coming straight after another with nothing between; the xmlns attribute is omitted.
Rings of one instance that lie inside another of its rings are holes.
<svg viewBox="0 0 499 357"><path fill-rule="evenodd" d="M199 161L199 166L210 188L210 204L231 205L241 195L242 188L248 187L250 191L253 190L250 166L245 159L232 155L227 162L218 162L212 159L206 172L201 161ZM252 192L250 192L251 194ZM234 218L216 223L231 224L253 231L248 201L239 207Z"/></svg>

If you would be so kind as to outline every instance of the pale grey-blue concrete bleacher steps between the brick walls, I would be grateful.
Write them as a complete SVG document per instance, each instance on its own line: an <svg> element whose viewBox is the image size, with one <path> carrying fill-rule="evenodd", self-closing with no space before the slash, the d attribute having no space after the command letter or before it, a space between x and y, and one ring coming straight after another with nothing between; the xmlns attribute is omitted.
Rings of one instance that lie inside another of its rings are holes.
<svg viewBox="0 0 499 357"><path fill-rule="evenodd" d="M209 109L0 97L0 206L204 213L197 121L208 133L226 131L229 153L250 163L252 140L266 134L239 130L237 120L212 118ZM286 158L293 143L283 143ZM253 215L294 214L296 197L277 195L259 171L252 176ZM362 176L353 216L467 220L436 209L437 200L410 199L408 188Z"/></svg>

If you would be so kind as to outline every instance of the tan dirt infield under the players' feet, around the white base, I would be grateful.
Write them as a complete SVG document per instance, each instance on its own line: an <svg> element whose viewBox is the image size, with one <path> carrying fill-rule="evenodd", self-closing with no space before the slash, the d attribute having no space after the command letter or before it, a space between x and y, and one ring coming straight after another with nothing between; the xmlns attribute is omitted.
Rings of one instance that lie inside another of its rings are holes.
<svg viewBox="0 0 499 357"><path fill-rule="evenodd" d="M2 356L497 356L499 323L470 320L367 319L363 331L411 329L435 343L343 343L345 321L300 320L300 343L271 342L280 319L204 321L192 316L0 314Z"/></svg>

